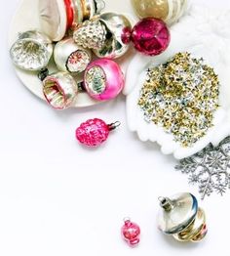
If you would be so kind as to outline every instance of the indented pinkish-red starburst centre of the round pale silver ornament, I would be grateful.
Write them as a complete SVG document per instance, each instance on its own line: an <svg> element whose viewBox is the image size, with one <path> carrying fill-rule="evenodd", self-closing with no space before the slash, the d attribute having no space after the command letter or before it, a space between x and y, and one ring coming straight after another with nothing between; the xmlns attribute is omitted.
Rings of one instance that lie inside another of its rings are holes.
<svg viewBox="0 0 230 256"><path fill-rule="evenodd" d="M88 53L78 50L69 56L66 67L69 72L83 72L90 62L91 58Z"/></svg>

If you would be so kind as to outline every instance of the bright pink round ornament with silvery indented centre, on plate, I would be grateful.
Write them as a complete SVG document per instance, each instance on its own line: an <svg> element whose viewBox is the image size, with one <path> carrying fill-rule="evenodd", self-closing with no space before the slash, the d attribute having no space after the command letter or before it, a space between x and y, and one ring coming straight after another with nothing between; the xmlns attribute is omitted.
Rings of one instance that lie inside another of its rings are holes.
<svg viewBox="0 0 230 256"><path fill-rule="evenodd" d="M99 59L89 64L84 75L84 86L88 94L97 101L116 98L124 88L123 72L111 60Z"/></svg>

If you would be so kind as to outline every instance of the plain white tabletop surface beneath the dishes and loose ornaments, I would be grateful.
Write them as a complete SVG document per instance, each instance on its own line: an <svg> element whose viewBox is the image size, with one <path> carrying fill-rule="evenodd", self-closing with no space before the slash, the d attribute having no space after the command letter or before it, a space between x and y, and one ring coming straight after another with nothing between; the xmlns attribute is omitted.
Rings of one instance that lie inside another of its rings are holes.
<svg viewBox="0 0 230 256"><path fill-rule="evenodd" d="M203 2L230 8L227 0ZM56 112L31 95L8 54L7 34L18 1L1 4L0 255L229 256L230 193L201 202L209 225L202 243L181 244L161 235L156 229L157 197L187 191L199 196L198 190L173 170L173 157L128 131L124 97ZM120 120L122 127L103 147L84 149L74 131L92 117ZM120 236L126 216L142 232L134 249Z"/></svg>

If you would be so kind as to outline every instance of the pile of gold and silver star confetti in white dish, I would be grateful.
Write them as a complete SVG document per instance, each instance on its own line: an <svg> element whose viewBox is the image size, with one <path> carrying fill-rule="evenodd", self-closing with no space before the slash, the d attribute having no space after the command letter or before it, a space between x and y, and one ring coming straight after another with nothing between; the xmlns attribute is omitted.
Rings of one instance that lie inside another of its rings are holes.
<svg viewBox="0 0 230 256"><path fill-rule="evenodd" d="M161 126L183 147L191 147L212 126L219 107L219 81L213 68L189 53L149 68L138 106L147 122Z"/></svg>

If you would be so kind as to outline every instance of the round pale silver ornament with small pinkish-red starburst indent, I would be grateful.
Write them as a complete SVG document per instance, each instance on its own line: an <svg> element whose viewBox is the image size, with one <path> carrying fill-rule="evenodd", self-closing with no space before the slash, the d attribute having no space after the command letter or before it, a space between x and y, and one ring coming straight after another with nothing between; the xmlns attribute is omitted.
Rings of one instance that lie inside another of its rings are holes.
<svg viewBox="0 0 230 256"><path fill-rule="evenodd" d="M91 63L92 54L90 50L75 44L72 38L65 38L55 46L54 59L58 70L77 74Z"/></svg>

